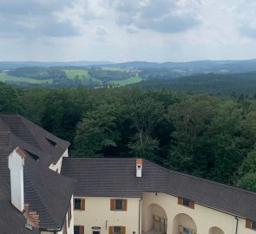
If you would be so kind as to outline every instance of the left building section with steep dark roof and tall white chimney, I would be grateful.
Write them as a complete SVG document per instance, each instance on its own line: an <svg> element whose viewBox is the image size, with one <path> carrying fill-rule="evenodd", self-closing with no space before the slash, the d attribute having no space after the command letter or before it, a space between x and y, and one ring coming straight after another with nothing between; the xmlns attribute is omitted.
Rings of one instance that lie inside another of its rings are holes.
<svg viewBox="0 0 256 234"><path fill-rule="evenodd" d="M69 143L0 114L0 233L73 233L75 181L59 174Z"/></svg>

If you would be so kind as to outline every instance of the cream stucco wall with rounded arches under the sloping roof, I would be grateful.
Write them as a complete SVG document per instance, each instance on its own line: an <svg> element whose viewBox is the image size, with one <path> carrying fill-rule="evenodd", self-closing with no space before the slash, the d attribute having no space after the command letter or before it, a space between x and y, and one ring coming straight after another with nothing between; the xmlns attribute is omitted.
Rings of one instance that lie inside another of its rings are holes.
<svg viewBox="0 0 256 234"><path fill-rule="evenodd" d="M160 205L167 214L167 234L178 234L178 222L187 224L187 227L194 228L196 224L197 233L208 234L210 228L219 227L225 234L235 234L236 219L233 215L221 211L215 211L202 205L194 205L190 209L184 205L178 205L178 198L165 193L144 192L142 197L142 231L152 228L152 213L150 205ZM174 219L179 214L181 217ZM187 218L186 214L189 216ZM149 216L149 217L148 217ZM193 220L192 220L193 219ZM256 234L256 231L246 229L245 219L239 219L238 234Z"/></svg>

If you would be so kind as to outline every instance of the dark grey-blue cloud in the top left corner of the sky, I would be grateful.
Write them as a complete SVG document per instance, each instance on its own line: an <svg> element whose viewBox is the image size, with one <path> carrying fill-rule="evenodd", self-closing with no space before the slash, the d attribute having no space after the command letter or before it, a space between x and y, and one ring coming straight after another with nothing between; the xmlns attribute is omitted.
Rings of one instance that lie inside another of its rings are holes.
<svg viewBox="0 0 256 234"><path fill-rule="evenodd" d="M68 0L2 1L0 3L1 36L77 36L79 29L71 21L58 17L57 11L71 7Z"/></svg>

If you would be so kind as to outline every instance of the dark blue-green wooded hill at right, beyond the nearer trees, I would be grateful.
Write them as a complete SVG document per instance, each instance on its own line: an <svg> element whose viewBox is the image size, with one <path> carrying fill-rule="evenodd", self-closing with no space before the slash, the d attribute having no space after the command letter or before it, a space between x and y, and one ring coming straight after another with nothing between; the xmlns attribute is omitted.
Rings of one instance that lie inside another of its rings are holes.
<svg viewBox="0 0 256 234"><path fill-rule="evenodd" d="M141 81L133 86L141 89L166 88L175 91L195 91L208 94L256 95L256 72L190 75L176 79Z"/></svg>

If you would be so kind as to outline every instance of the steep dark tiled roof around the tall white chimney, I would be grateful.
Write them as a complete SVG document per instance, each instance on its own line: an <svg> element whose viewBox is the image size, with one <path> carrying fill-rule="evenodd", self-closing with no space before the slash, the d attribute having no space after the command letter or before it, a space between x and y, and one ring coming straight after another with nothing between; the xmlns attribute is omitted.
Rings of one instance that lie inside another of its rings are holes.
<svg viewBox="0 0 256 234"><path fill-rule="evenodd" d="M8 116L12 122L11 125L7 125L10 123ZM16 127L14 123L21 124L22 127ZM57 146L49 143L45 137L55 141ZM47 133L18 114L0 114L0 186L7 186L7 195L10 195L8 156L16 146L19 146L26 154L24 162L25 203L30 205L30 211L36 211L39 214L41 229L62 228L75 183L74 180L51 171L49 165L61 158L69 143ZM6 202L2 200L3 195L0 190L1 204ZM10 204L10 196L6 199ZM0 224L8 221L4 218L4 212L0 209ZM16 209L12 209L11 213L14 218L21 215ZM6 223L6 230L9 230L8 225L12 224ZM26 232L9 231L8 233Z"/></svg>

